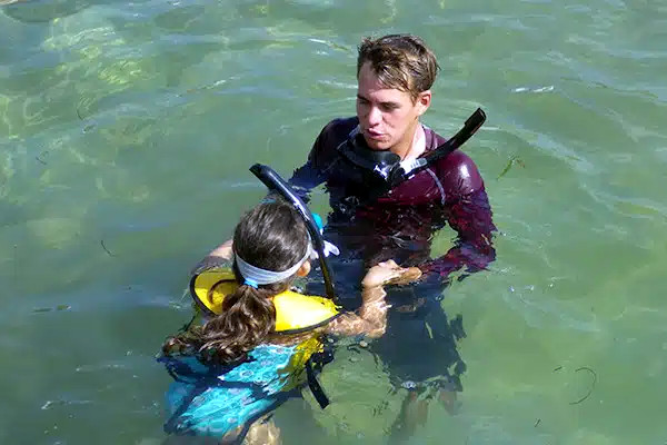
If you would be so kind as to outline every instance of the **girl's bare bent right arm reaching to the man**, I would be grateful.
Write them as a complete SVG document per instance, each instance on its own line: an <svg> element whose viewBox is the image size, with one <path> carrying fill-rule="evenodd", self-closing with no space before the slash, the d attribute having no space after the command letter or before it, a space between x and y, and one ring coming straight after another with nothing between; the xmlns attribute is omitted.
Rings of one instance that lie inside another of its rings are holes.
<svg viewBox="0 0 667 445"><path fill-rule="evenodd" d="M346 313L332 320L325 329L328 334L354 336L365 334L377 338L387 328L387 293L384 285L407 284L418 279L421 271L417 267L402 268L392 259L380 263L368 270L361 281L361 307L359 315Z"/></svg>

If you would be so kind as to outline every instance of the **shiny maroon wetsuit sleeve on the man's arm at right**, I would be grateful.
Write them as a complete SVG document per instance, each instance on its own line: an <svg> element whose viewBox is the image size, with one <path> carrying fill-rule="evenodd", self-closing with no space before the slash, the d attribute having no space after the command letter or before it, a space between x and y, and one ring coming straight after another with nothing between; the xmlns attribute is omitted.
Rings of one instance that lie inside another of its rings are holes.
<svg viewBox="0 0 667 445"><path fill-rule="evenodd" d="M441 167L445 172L439 176L446 190L444 217L458 237L447 254L422 265L421 269L447 278L464 267L466 273L482 270L496 259L492 244L496 226L475 162L465 154L457 154L448 159L448 165Z"/></svg>

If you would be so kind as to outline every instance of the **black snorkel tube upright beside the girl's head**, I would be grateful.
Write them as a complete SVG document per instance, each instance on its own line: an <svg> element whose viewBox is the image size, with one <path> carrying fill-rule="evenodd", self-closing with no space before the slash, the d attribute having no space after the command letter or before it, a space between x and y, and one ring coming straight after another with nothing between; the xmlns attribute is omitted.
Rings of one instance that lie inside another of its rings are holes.
<svg viewBox="0 0 667 445"><path fill-rule="evenodd" d="M327 263L327 257L325 256L325 240L322 235L320 234L320 228L317 225L317 221L306 204L293 192L293 190L289 187L289 185L278 175L271 167L263 166L261 164L256 164L250 167L250 171L257 176L257 178L263 182L265 186L270 191L276 191L280 194L285 199L291 202L297 211L301 214L303 220L306 221L306 227L308 228L308 233L310 234L310 239L315 244L315 248L317 250L319 257L320 268L322 269L322 276L325 278L325 286L327 289L327 297L336 300L336 290L334 288L334 281L331 279L331 269L329 268L329 264Z"/></svg>

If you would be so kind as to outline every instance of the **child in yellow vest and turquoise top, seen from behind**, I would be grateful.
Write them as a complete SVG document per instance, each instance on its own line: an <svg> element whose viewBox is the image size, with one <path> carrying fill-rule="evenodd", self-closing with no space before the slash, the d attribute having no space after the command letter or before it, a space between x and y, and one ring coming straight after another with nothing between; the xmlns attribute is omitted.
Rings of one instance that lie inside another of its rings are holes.
<svg viewBox="0 0 667 445"><path fill-rule="evenodd" d="M306 380L317 393L312 366L322 364L317 360L321 336L381 336L387 322L382 285L421 275L392 260L380 263L361 281L358 315L339 313L330 299L289 290L295 278L310 271L311 251L301 216L272 200L248 211L233 241L200 263L190 287L209 318L168 338L160 358L176 379L167 396L167 433L279 443L268 417ZM225 261L232 261L231 269L220 268Z"/></svg>

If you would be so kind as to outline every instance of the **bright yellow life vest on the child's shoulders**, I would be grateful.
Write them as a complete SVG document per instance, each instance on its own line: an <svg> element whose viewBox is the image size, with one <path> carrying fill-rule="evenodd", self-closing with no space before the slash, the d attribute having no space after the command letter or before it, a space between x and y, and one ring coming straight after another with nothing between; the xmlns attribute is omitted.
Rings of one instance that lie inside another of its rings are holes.
<svg viewBox="0 0 667 445"><path fill-rule="evenodd" d="M233 293L238 284L230 269L211 269L195 275L190 280L190 294L205 314L219 315L226 295ZM212 291L210 291L213 289ZM276 333L298 334L315 329L339 315L328 298L301 295L286 290L273 297L276 307Z"/></svg>

